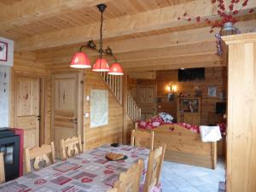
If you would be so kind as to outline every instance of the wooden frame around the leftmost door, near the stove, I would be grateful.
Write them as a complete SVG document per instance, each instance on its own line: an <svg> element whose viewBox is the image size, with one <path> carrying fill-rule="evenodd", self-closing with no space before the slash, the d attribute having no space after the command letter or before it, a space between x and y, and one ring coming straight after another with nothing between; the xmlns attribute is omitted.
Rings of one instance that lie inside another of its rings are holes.
<svg viewBox="0 0 256 192"><path fill-rule="evenodd" d="M20 72L15 72L12 70L11 72L11 90L13 93L12 97L12 108L14 109L13 119L11 121L13 122L11 126L15 127L17 121L16 121L16 114L17 114L17 89L16 84L17 84L17 78L18 77L28 77L28 78L38 78L39 79L39 113L40 113L40 123L39 123L39 145L41 146L42 144L46 143L46 127L45 127L45 98L46 98L46 91L45 91L45 75L40 75L40 74L32 74L32 73L20 73ZM19 127L17 127L19 128Z"/></svg>

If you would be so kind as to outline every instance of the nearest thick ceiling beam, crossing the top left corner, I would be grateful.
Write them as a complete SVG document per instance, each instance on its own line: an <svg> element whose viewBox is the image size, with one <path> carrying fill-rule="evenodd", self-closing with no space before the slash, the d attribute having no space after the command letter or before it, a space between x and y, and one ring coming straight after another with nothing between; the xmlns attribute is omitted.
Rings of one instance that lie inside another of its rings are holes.
<svg viewBox="0 0 256 192"><path fill-rule="evenodd" d="M110 0L23 0L5 6L0 11L0 30L24 26L32 22L55 17L76 9L107 3Z"/></svg>

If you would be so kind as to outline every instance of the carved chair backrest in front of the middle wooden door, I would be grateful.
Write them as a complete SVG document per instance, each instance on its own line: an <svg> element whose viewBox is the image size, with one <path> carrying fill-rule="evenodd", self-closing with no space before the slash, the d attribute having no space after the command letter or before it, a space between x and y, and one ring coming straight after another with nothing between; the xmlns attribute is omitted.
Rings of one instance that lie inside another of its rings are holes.
<svg viewBox="0 0 256 192"><path fill-rule="evenodd" d="M61 139L61 160L82 153L81 137L68 137Z"/></svg>

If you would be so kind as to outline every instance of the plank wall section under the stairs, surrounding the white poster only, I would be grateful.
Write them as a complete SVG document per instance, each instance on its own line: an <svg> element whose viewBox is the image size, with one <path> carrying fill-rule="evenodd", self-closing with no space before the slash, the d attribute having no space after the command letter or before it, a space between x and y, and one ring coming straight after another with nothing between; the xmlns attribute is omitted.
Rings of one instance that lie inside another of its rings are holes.
<svg viewBox="0 0 256 192"><path fill-rule="evenodd" d="M85 73L84 97L90 90L108 90L100 75L90 71ZM90 113L90 102L84 101L84 113ZM113 94L108 94L108 125L90 128L90 118L84 118L85 149L96 148L104 143L119 143L122 138L123 108Z"/></svg>

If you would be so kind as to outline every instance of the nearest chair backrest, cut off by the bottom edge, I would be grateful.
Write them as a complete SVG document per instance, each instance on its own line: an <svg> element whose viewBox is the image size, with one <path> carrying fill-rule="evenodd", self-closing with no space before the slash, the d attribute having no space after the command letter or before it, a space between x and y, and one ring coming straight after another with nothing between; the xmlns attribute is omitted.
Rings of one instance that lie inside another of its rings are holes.
<svg viewBox="0 0 256 192"><path fill-rule="evenodd" d="M138 160L126 172L121 172L119 180L114 183L118 192L138 192L143 175L143 160Z"/></svg>

